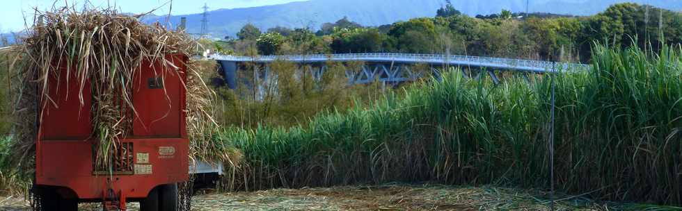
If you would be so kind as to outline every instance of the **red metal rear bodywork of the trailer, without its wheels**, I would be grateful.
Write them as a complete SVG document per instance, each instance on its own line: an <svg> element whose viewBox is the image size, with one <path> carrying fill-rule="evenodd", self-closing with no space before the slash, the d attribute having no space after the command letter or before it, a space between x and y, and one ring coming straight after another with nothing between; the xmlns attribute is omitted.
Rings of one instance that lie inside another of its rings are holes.
<svg viewBox="0 0 682 211"><path fill-rule="evenodd" d="M139 115L134 119L132 137L121 142L134 145L134 164L146 165L150 171L126 176L96 176L93 174L93 142L86 140L92 131L90 124L91 94L89 83L83 89L84 105L80 105L80 85L62 74L50 80L50 96L61 99L55 105L42 108L44 117L36 144L37 185L72 189L79 199L102 199L105 188L113 188L127 198L140 199L157 185L179 183L188 179L187 129L185 126L186 69L184 56L168 56L170 65L143 66L134 79L133 103ZM62 71L63 70L59 70ZM149 87L148 78L161 76L164 89ZM74 78L74 76L70 76ZM56 88L54 88L56 87ZM68 97L65 91L68 90ZM138 160L138 155L147 160ZM111 185L109 185L111 184Z"/></svg>

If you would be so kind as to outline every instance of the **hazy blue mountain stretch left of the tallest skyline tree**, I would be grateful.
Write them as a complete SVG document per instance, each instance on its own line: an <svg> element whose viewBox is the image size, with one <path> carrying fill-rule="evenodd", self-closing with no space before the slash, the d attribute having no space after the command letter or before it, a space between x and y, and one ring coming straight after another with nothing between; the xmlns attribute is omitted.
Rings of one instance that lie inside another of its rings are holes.
<svg viewBox="0 0 682 211"><path fill-rule="evenodd" d="M347 16L364 26L390 24L412 17L432 17L443 0L310 0L254 8L221 9L209 12L209 32L216 37L234 35L244 24L251 23L266 30L274 26L290 28L311 27L316 30L326 22ZM210 5L209 5L210 6ZM180 17L187 17L187 30L199 33L201 14L170 18L177 25ZM166 17L146 19L165 22Z"/></svg>

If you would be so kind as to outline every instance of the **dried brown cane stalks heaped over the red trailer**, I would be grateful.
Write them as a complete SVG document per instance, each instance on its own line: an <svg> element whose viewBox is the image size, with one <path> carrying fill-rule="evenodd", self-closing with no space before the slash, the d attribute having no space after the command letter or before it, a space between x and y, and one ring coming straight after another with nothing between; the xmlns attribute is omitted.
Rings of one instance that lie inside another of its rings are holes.
<svg viewBox="0 0 682 211"><path fill-rule="evenodd" d="M57 67L66 67L69 79L60 83L80 85L79 93L69 94L78 94L81 105L84 105L84 87L86 83L91 84L92 138L99 140L97 164L106 166L111 162L109 150L115 149L118 140L131 130L130 121L136 115L130 95L132 79L140 71L143 61L160 62L173 68L175 66L164 56L181 54L191 57L195 42L184 33L167 30L159 24L143 24L135 17L118 14L116 10L58 8L37 13L36 17L40 18L19 48L22 53L14 68L19 71L15 79L19 83L13 85L17 90L15 117L22 120L15 130L15 153L20 158L17 162L24 169L32 169L36 134L33 119L38 106L45 108L56 100L49 98L45 85L54 83L51 80L58 78ZM210 112L203 108L210 104L212 93L197 76L189 72L189 79L184 83L188 90L187 104L190 105L188 125L195 127L189 135L194 145L209 146L198 143L210 139L201 135L204 131L196 127L214 126ZM36 106L38 102L42 103Z"/></svg>

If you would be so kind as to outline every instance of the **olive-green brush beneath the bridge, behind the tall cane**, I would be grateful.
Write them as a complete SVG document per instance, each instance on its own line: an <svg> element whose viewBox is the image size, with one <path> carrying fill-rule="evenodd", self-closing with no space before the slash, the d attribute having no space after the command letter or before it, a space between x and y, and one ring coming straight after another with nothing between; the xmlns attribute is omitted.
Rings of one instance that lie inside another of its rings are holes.
<svg viewBox="0 0 682 211"><path fill-rule="evenodd" d="M347 67L359 69L358 62L328 62L321 78L312 78L312 67L299 67L278 60L269 64L270 76L257 76L263 67L246 65L238 71L237 90L217 87L216 101L223 126L257 128L259 126L305 125L310 117L328 110L345 110L351 105L377 99L383 89L376 85L347 87ZM258 70L258 71L255 71ZM262 84L253 87L253 84ZM353 101L359 99L360 101Z"/></svg>

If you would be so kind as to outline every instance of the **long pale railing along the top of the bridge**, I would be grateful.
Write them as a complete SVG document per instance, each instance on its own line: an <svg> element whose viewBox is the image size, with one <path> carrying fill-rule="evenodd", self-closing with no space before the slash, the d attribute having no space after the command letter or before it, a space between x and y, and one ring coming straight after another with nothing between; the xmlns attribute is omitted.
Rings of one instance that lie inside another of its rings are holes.
<svg viewBox="0 0 682 211"><path fill-rule="evenodd" d="M547 62L539 60L523 60L512 58L491 58L482 56L446 56L438 54L418 54L418 53L342 53L342 54L310 54L310 55L278 55L278 56L232 56L232 55L212 55L215 60L231 60L239 62L271 62L274 60L292 60L298 62L319 62L324 60L360 60L360 61L384 61L384 62L437 62L454 65L472 65L483 67L505 67L534 69L537 71L560 71L589 69L589 65L567 63L567 62Z"/></svg>

